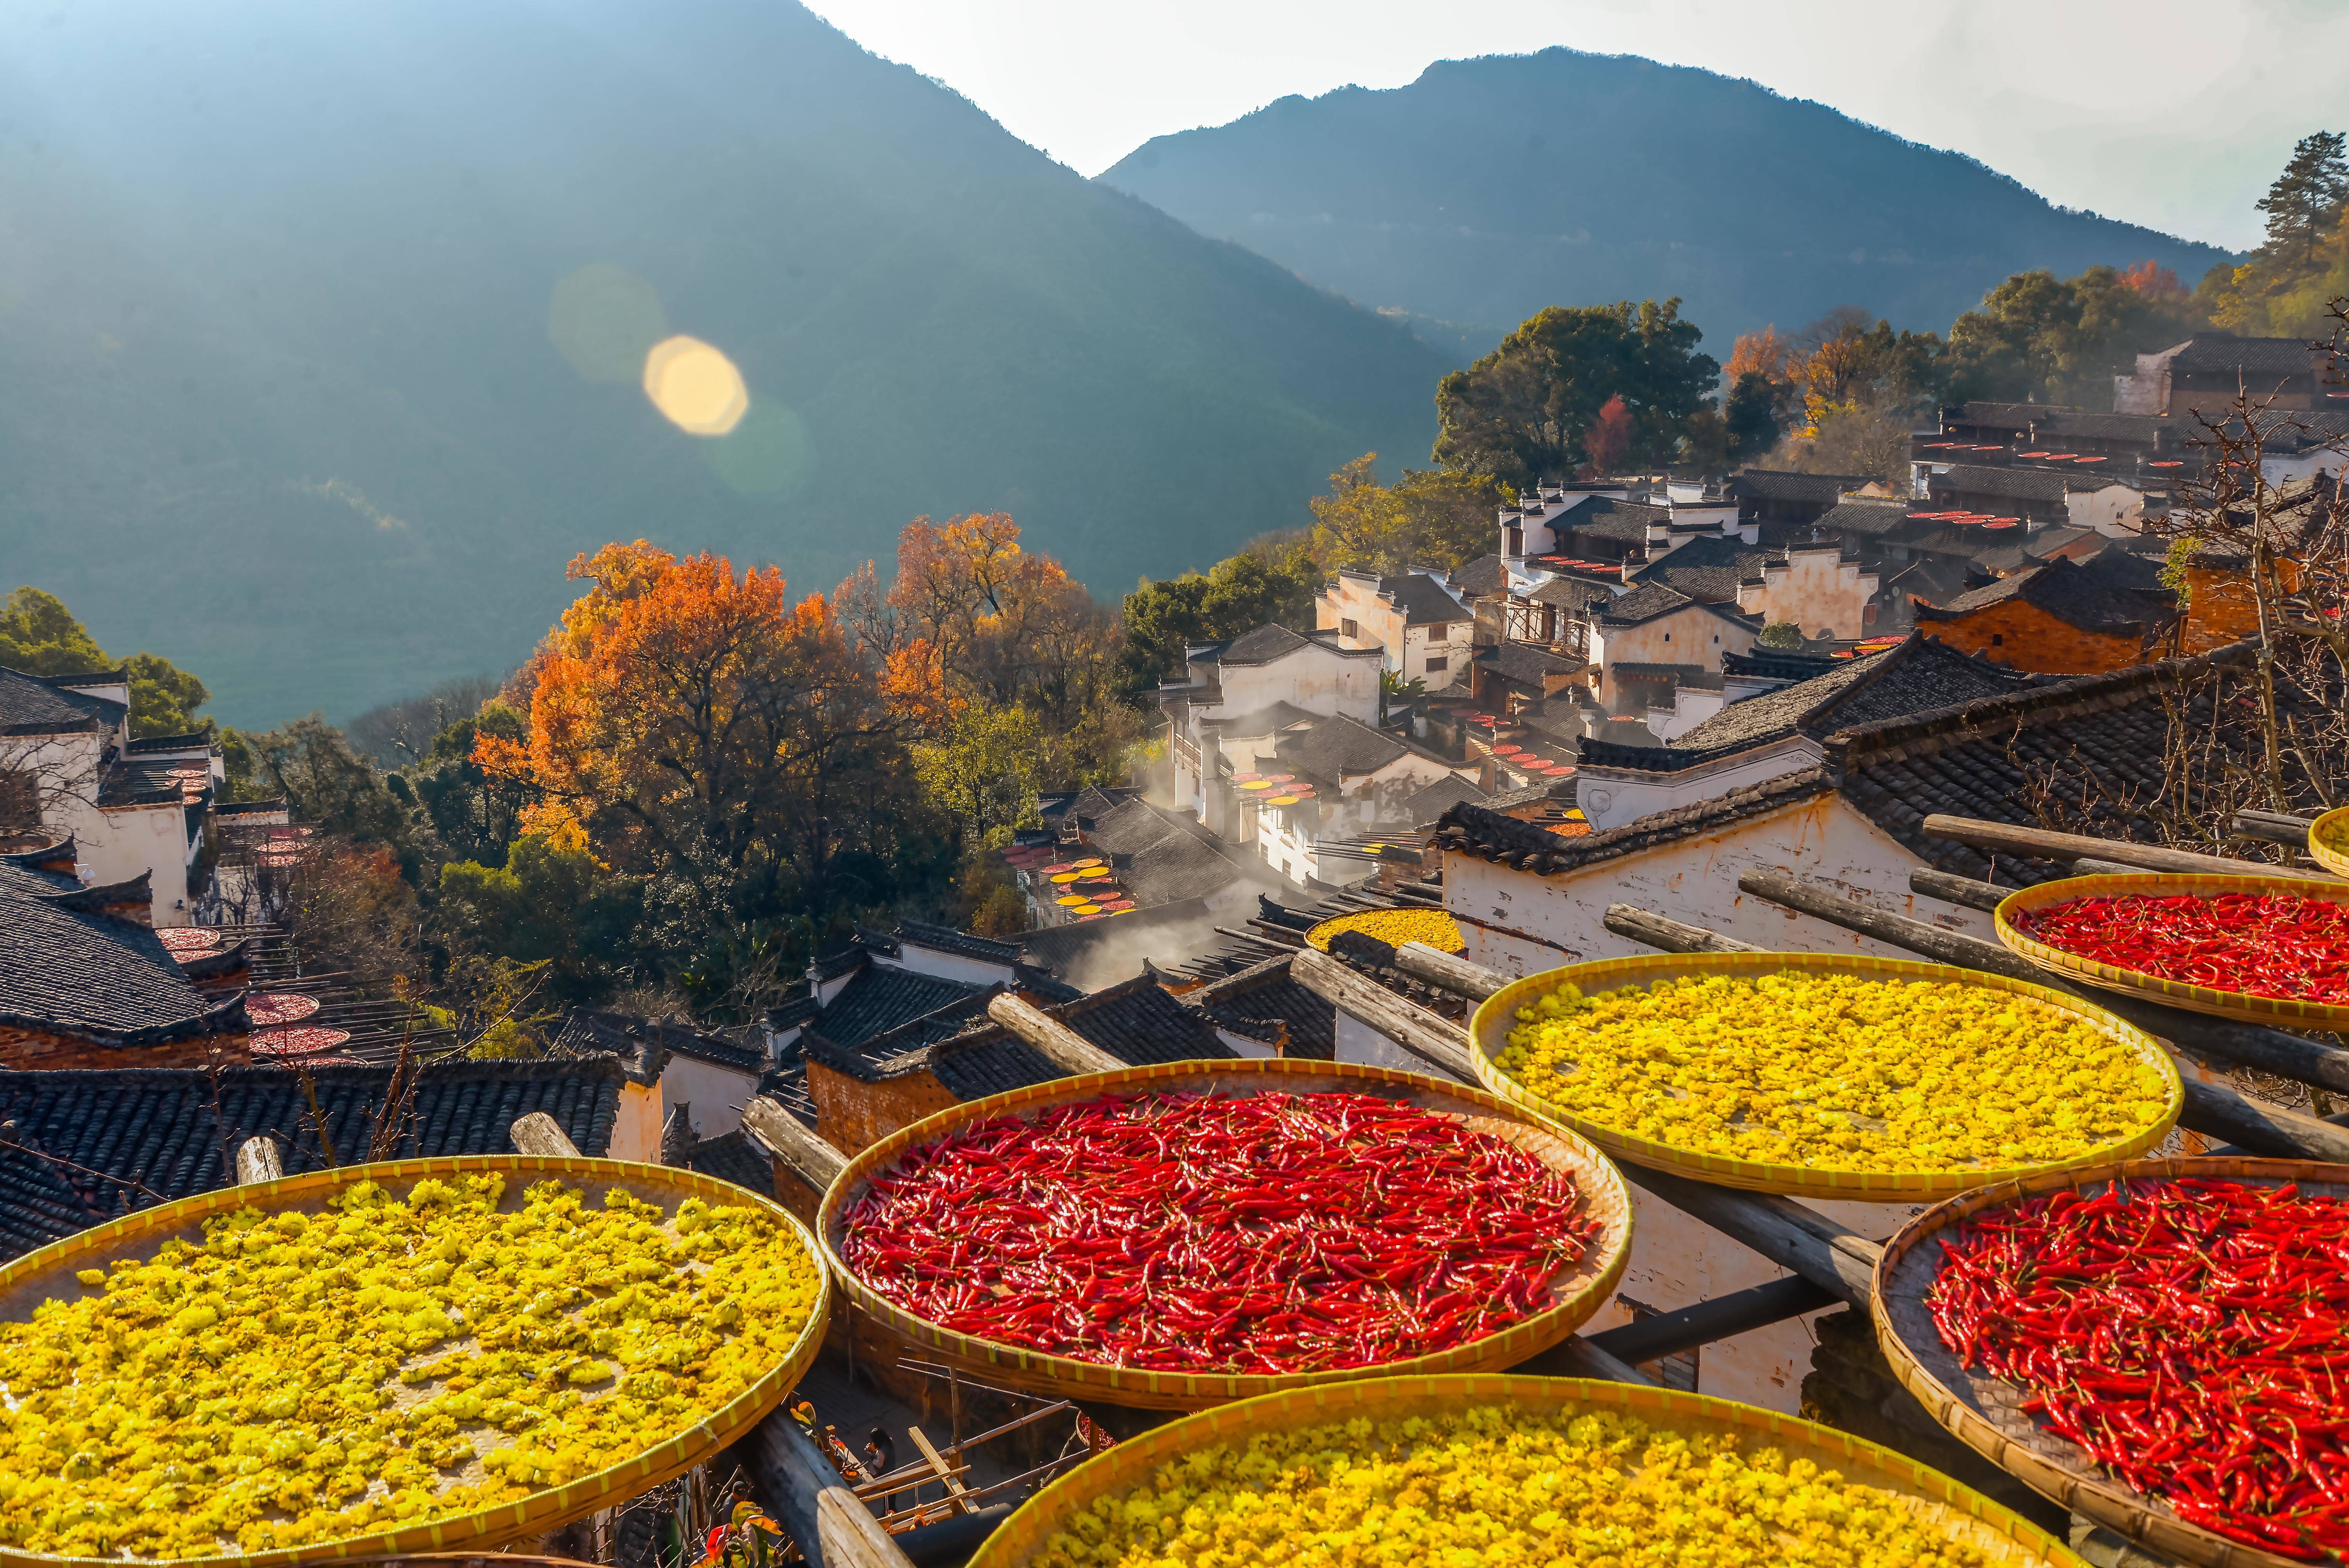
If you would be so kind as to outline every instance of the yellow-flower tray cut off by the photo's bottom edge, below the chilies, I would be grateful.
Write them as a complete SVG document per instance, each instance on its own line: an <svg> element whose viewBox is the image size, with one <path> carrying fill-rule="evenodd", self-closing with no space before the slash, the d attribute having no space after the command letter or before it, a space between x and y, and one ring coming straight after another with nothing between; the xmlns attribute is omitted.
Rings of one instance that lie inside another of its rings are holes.
<svg viewBox="0 0 2349 1568"><path fill-rule="evenodd" d="M1036 1493L970 1568L1454 1561L2081 1559L1835 1427L1630 1383L1452 1376L1330 1383L1156 1427Z"/></svg>

